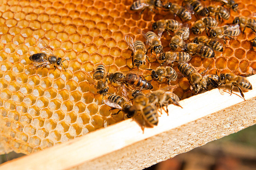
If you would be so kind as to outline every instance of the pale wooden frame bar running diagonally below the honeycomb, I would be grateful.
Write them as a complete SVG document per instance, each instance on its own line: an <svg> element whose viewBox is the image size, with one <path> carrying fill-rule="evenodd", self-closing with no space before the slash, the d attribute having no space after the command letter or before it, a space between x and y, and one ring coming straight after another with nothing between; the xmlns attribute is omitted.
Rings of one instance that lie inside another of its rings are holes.
<svg viewBox="0 0 256 170"><path fill-rule="evenodd" d="M248 78L256 87L256 75ZM7 162L2 169L143 169L256 123L256 89L240 96L218 89L168 106L144 134L132 119Z"/></svg>

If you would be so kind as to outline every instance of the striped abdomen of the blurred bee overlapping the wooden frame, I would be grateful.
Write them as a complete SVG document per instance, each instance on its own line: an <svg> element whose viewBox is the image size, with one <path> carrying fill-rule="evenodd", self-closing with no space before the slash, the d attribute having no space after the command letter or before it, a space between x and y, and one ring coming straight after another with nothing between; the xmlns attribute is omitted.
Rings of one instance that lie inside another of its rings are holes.
<svg viewBox="0 0 256 170"><path fill-rule="evenodd" d="M146 107L143 108L142 113L143 118L146 122L148 122L151 126L156 126L158 124L158 114L156 110L156 106L152 104L148 104Z"/></svg>

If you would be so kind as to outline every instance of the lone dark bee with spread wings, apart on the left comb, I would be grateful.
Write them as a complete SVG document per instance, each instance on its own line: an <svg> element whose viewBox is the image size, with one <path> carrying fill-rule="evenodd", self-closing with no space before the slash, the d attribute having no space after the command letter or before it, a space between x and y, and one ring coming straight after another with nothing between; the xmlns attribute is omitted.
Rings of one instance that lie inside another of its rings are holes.
<svg viewBox="0 0 256 170"><path fill-rule="evenodd" d="M47 65L50 65L50 64L53 64L54 70L57 68L57 66L62 66L64 68L64 66L62 65L62 62L65 60L62 61L60 57L57 57L56 55L54 55L52 53L52 50L48 47L48 45L42 39L39 38L38 41L39 41L38 47L43 53L37 53L29 56L29 60L32 61L32 66L30 67L30 69L39 69L41 67L46 67ZM47 55L50 55L50 56L47 57ZM64 70L66 71L65 68Z"/></svg>

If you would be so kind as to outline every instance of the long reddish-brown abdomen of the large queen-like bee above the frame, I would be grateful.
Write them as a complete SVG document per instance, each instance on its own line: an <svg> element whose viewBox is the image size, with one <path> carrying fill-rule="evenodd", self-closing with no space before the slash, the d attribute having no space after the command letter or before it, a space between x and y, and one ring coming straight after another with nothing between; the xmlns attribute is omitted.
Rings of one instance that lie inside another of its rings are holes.
<svg viewBox="0 0 256 170"><path fill-rule="evenodd" d="M134 73L128 73L125 79L125 83L134 87L141 87L144 90L153 89L153 86L144 77L138 76Z"/></svg>

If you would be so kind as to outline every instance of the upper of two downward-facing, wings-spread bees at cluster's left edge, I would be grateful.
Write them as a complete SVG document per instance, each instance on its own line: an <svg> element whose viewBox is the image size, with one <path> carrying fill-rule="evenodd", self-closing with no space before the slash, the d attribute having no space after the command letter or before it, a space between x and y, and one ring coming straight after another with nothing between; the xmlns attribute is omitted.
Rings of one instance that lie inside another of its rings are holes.
<svg viewBox="0 0 256 170"><path fill-rule="evenodd" d="M148 31L147 33L140 29L138 31L148 41L146 41L146 44L151 48L151 54L153 50L156 52L156 55L162 52L163 46L160 39L163 29L158 29L157 35L152 31Z"/></svg>

